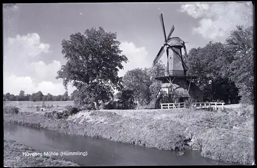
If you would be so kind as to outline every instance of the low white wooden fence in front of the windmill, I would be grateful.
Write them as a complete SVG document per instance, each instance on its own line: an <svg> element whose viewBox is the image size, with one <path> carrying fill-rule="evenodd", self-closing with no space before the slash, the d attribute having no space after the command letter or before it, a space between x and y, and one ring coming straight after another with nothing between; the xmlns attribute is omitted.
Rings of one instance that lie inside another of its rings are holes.
<svg viewBox="0 0 257 168"><path fill-rule="evenodd" d="M208 108L208 107L222 107L224 110L224 102L194 102L193 107L195 109ZM177 103L160 103L161 109L178 109L185 108L185 102L177 102Z"/></svg>

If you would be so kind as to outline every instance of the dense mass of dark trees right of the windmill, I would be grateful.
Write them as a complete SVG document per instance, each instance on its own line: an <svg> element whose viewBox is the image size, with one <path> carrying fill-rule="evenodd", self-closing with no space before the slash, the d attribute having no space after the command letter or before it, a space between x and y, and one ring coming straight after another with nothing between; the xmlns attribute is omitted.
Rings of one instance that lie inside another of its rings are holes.
<svg viewBox="0 0 257 168"><path fill-rule="evenodd" d="M237 26L225 43L209 42L189 51L195 83L209 100L253 102L253 28ZM239 93L238 93L239 89Z"/></svg>

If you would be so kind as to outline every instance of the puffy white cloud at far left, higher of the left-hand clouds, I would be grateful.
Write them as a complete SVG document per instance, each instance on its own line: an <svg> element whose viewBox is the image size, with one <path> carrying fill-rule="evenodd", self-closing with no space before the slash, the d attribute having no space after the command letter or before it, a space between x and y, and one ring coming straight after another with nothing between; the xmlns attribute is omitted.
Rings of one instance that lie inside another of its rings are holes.
<svg viewBox="0 0 257 168"><path fill-rule="evenodd" d="M40 36L36 33L27 35L16 35L9 37L5 46L7 57L36 57L49 52L50 45L41 43Z"/></svg>

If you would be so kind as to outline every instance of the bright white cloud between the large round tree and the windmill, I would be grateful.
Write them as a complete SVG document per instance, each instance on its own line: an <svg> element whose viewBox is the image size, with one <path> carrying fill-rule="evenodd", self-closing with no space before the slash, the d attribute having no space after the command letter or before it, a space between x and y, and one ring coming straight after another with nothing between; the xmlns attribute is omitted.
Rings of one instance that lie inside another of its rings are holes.
<svg viewBox="0 0 257 168"><path fill-rule="evenodd" d="M126 71L134 68L151 66L151 61L146 59L148 52L145 47L137 48L133 43L122 42L120 44L120 49L123 51L122 54L128 58L128 62L123 64L124 70L119 71L119 76L123 76Z"/></svg>

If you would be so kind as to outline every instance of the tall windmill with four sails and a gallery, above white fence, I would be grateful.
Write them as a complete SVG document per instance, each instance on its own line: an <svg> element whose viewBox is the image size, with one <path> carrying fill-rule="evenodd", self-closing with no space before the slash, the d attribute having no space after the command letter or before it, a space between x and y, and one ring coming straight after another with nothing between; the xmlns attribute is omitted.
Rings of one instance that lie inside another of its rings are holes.
<svg viewBox="0 0 257 168"><path fill-rule="evenodd" d="M164 44L155 57L154 64L161 58L165 48L168 60L164 74L155 77L162 82L162 86L156 95L155 108L158 108L160 103L184 102L189 97L193 97L196 102L203 102L201 90L192 82L195 77L190 73L185 41L179 37L171 37L175 29L174 25L166 36L162 13L160 22L164 34ZM186 55L186 62L182 58L182 48Z"/></svg>

